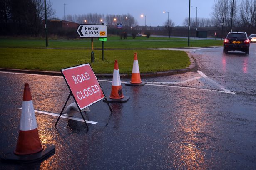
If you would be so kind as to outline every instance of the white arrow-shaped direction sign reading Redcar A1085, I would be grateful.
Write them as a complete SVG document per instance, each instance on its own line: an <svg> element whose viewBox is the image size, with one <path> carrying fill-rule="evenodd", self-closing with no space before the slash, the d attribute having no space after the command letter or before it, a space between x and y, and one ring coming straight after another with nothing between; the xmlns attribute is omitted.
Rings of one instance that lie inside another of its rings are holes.
<svg viewBox="0 0 256 170"><path fill-rule="evenodd" d="M107 37L107 25L80 24L77 33L82 38Z"/></svg>

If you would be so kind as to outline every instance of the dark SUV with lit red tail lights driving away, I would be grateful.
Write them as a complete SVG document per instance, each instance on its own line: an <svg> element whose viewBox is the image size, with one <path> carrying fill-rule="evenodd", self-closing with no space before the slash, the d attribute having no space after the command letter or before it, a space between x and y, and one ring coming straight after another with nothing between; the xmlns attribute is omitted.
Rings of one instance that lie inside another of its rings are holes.
<svg viewBox="0 0 256 170"><path fill-rule="evenodd" d="M249 54L251 38L247 37L246 32L229 32L224 38L223 52L228 51L242 51L245 54Z"/></svg>

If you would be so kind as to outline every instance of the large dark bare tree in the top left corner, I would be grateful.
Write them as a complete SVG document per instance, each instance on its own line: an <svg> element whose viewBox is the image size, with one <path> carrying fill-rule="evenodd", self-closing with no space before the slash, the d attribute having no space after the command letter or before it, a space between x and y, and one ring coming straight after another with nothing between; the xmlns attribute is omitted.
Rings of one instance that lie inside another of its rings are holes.
<svg viewBox="0 0 256 170"><path fill-rule="evenodd" d="M55 13L47 2L47 16ZM45 18L44 0L0 0L1 34L38 35Z"/></svg>

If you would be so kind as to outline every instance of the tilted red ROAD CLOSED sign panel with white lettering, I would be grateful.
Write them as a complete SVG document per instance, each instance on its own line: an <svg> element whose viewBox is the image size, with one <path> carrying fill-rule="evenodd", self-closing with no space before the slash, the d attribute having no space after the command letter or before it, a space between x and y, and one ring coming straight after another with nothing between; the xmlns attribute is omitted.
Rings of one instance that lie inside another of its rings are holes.
<svg viewBox="0 0 256 170"><path fill-rule="evenodd" d="M89 63L61 69L80 110L104 99L103 91Z"/></svg>

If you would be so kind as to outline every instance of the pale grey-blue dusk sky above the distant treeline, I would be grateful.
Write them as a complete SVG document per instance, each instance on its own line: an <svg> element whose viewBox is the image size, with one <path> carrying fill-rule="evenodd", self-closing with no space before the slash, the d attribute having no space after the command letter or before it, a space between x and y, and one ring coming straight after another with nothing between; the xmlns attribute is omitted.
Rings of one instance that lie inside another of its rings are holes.
<svg viewBox="0 0 256 170"><path fill-rule="evenodd" d="M189 17L189 0L50 0L55 10L54 17L64 19L65 15L79 15L87 13L98 14L131 14L138 25L162 26L171 19L176 26L183 26L183 21ZM190 17L210 18L214 0L191 0ZM140 17L140 15L146 15ZM118 18L117 18L118 20Z"/></svg>

